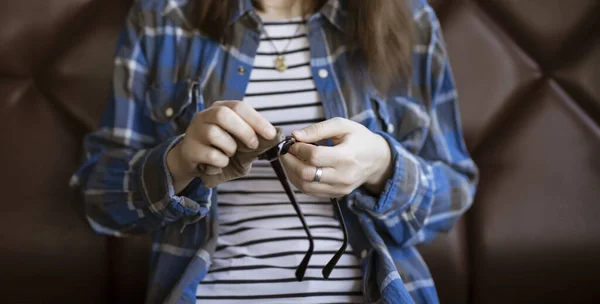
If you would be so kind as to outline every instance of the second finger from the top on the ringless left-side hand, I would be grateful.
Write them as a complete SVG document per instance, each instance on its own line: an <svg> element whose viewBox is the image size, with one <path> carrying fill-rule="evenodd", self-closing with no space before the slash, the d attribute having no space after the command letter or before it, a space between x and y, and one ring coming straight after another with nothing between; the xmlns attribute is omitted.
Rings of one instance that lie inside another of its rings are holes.
<svg viewBox="0 0 600 304"><path fill-rule="evenodd" d="M254 130L236 112L228 107L215 107L206 122L216 124L225 131L233 134L250 149L258 147L258 137Z"/></svg>

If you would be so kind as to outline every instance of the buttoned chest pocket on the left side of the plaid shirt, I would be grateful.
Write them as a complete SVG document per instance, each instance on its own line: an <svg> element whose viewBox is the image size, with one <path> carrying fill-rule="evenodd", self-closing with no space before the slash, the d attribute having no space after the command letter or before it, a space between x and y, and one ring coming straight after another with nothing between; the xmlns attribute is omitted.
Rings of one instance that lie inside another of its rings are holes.
<svg viewBox="0 0 600 304"><path fill-rule="evenodd" d="M198 111L202 102L198 81L155 84L146 92L146 102L158 137L170 139L184 133Z"/></svg>

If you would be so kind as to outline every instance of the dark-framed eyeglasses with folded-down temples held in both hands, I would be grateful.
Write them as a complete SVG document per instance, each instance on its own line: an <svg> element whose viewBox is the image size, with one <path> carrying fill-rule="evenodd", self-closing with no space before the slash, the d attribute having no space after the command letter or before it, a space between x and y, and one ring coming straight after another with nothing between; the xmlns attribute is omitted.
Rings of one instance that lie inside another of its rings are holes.
<svg viewBox="0 0 600 304"><path fill-rule="evenodd" d="M294 191L292 191L292 188L290 187L290 183L288 181L287 175L285 174L285 170L283 169L281 161L279 160L279 157L281 155L285 155L289 152L290 147L294 143L296 143L294 138L288 136L275 147L259 155L258 159L268 160L271 163L271 167L273 167L273 170L275 171L275 174L277 174L277 178L279 178L279 181L281 182L281 185L283 186L283 189L285 190L288 199L292 203L292 206L294 206L294 210L296 210L296 214L298 215L300 222L302 222L302 228L304 228L306 236L308 237L308 251L306 252L306 255L304 255L304 259L302 259L300 265L298 265L298 268L296 268L296 279L298 279L298 281L302 281L302 279L304 279L306 269L308 268L308 262L310 261L310 257L314 252L315 243L312 234L310 233L310 229L306 224L306 220L304 219L304 214L302 214L302 210L300 210L300 205L298 205L298 202L296 201ZM331 275L333 268L346 251L346 247L348 247L348 230L346 229L346 223L344 222L344 218L342 217L340 202L337 198L331 198L331 203L334 205L334 212L340 221L340 225L342 226L342 231L344 232L344 241L342 243L342 247L340 247L340 249L335 253L333 258L331 258L331 260L323 268L322 274L323 277L326 279L329 278L329 275Z"/></svg>

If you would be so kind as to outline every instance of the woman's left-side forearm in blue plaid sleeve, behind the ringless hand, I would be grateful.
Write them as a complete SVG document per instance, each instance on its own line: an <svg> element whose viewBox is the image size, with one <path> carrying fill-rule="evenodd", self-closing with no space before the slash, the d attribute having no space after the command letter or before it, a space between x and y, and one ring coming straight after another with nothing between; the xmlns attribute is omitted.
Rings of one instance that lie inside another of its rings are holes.
<svg viewBox="0 0 600 304"><path fill-rule="evenodd" d="M109 142L90 147L96 152L79 175L86 217L98 233L148 233L208 212L210 191L201 185L186 196L175 194L165 161L175 139L146 150L110 148Z"/></svg>

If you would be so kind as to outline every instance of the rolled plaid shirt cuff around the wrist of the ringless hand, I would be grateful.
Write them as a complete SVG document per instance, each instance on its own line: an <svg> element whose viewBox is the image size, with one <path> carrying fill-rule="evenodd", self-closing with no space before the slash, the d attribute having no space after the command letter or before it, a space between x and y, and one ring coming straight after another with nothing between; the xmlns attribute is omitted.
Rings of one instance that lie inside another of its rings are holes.
<svg viewBox="0 0 600 304"><path fill-rule="evenodd" d="M202 187L197 179L186 187L182 195L175 193L173 177L167 166L167 154L182 139L183 135L180 135L150 150L139 174L144 201L150 211L160 214L166 223L183 217L200 219L208 213L210 207L208 198L211 190ZM192 184L194 189L191 188Z"/></svg>

